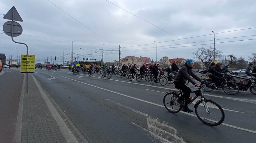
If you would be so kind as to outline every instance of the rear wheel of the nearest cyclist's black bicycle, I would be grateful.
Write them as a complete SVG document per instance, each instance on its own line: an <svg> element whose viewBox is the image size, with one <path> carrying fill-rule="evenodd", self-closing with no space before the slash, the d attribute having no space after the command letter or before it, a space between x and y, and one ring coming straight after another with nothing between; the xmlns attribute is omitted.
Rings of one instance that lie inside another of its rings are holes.
<svg viewBox="0 0 256 143"><path fill-rule="evenodd" d="M163 105L171 113L178 113L181 110L181 106L175 101L177 96L175 93L166 93L163 97Z"/></svg>

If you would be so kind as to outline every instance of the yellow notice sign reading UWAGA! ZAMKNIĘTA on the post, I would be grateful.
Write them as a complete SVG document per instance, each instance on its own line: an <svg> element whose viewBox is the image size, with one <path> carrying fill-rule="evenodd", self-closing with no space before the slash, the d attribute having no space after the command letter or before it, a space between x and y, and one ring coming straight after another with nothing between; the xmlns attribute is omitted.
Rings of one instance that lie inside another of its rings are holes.
<svg viewBox="0 0 256 143"><path fill-rule="evenodd" d="M35 55L21 55L20 73L35 73Z"/></svg>

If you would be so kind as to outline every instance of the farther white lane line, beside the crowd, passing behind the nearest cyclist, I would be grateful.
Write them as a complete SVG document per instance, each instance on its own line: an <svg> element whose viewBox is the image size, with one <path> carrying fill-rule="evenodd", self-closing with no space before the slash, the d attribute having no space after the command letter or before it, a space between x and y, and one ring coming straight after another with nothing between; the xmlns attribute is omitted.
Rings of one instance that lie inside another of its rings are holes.
<svg viewBox="0 0 256 143"><path fill-rule="evenodd" d="M66 72L66 73L70 73L70 72ZM84 75L84 74L81 74ZM84 75L84 76L88 76L88 75ZM95 77L95 76L92 76ZM95 77L95 78L101 78L101 77ZM101 78L102 79L102 78ZM106 78L103 78L106 79ZM117 81L117 82L125 82L125 81L120 81L120 80L115 80L115 79L106 79L106 80L112 80L112 81ZM129 83L129 84L138 84L138 85L144 85L144 86L149 86L149 87L156 87L156 88L162 88L162 89L172 89L172 90L176 90L179 91L175 88L166 88L166 87L159 87L159 86L153 86L153 85L147 85L147 84L139 84L139 83L133 83L133 82L125 82L125 83ZM205 94L206 96L212 96L212 97L217 97L217 98L224 98L224 99L230 99L230 100L236 100L236 101L242 101L242 102L249 102L249 103L254 103L256 104L256 100L252 100L252 99L237 99L237 98L233 98L233 97L224 97L224 96L216 96L216 95L211 95L211 94Z"/></svg>

